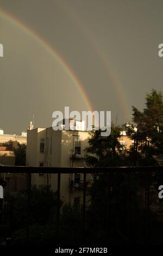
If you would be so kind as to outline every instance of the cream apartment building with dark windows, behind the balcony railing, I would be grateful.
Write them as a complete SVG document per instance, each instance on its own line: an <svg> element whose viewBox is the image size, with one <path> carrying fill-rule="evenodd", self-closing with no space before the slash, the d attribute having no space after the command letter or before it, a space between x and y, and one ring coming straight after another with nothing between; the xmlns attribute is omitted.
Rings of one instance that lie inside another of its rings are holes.
<svg viewBox="0 0 163 256"><path fill-rule="evenodd" d="M72 124L71 124L72 125ZM79 126L80 127L80 126ZM85 149L89 132L76 130L54 131L52 127L36 128L27 132L27 166L86 167ZM57 191L57 174L33 174L32 185L51 185ZM87 174L87 186L92 176ZM82 204L83 174L61 174L61 199L71 204Z"/></svg>

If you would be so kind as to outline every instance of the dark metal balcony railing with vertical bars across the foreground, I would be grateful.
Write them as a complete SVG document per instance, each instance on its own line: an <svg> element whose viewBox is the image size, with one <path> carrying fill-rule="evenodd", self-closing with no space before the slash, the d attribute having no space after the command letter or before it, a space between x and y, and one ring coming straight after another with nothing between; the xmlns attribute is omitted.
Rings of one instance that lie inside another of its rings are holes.
<svg viewBox="0 0 163 256"><path fill-rule="evenodd" d="M163 167L156 166L156 167L107 167L107 168L55 168L55 167L17 167L17 166L0 166L0 174L5 173L14 173L14 174L27 174L28 177L28 211L27 211L27 242L29 240L29 227L30 227L30 199L31 199L31 180L32 180L32 174L58 174L58 187L57 187L57 235L55 243L57 245L60 244L60 187L61 187L61 174L83 174L83 228L81 230L82 232L82 243L84 244L85 237L86 237L86 174L92 174L93 176L97 175L105 175L106 178L106 184L109 184L110 182L110 174L125 174L127 177L127 198L126 198L126 205L127 205L127 223L126 223L126 229L127 229L127 237L130 236L130 224L131 224L131 175L132 174L143 174L145 177L145 214L146 214L146 223L145 223L145 233L146 237L145 243L149 243L149 206L150 206L150 198L149 198L149 179L153 177L153 175L161 174L163 175ZM150 181L151 182L151 181ZM161 184L160 184L161 185ZM109 190L108 186L106 186L106 197L109 198ZM108 202L106 200L106 202ZM106 204L106 216L108 216L109 211L109 204ZM107 222L107 220L106 220ZM106 223L107 225L107 223ZM1 234L0 234L1 236Z"/></svg>

